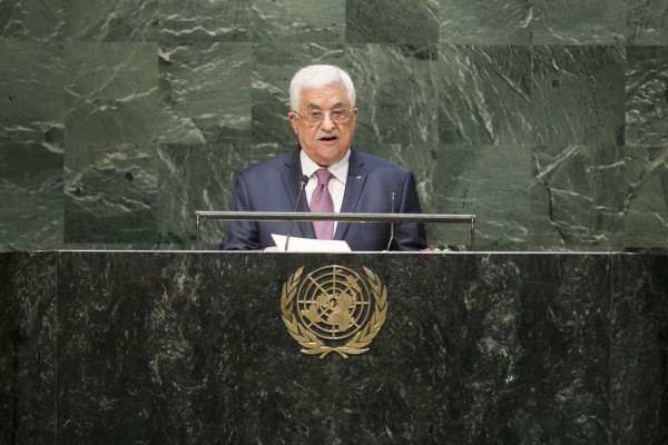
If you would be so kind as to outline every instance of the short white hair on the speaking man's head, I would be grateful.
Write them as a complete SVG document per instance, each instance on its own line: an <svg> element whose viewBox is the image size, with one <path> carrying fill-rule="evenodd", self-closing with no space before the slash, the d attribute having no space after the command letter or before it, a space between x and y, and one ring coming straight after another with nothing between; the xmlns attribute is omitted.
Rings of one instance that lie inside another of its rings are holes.
<svg viewBox="0 0 668 445"><path fill-rule="evenodd" d="M302 90L342 85L347 93L351 109L355 108L355 87L351 77L333 65L310 65L297 71L289 82L289 107L297 110Z"/></svg>

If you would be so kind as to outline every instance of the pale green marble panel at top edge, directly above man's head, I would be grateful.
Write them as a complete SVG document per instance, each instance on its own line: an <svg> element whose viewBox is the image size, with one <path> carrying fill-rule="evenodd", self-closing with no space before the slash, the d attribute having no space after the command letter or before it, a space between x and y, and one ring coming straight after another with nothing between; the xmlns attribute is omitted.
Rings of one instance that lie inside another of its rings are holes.
<svg viewBox="0 0 668 445"><path fill-rule="evenodd" d="M249 33L259 42L343 42L345 0L253 0Z"/></svg>

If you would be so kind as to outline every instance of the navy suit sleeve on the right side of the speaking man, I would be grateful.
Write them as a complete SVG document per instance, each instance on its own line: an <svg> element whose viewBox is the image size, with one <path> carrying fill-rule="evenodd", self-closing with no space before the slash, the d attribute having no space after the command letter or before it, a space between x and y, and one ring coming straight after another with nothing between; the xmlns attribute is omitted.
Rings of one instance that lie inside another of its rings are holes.
<svg viewBox="0 0 668 445"><path fill-rule="evenodd" d="M422 212L415 187L415 176L410 171L404 180L400 206L399 211L402 214ZM401 222L395 225L391 250L422 250L426 246L424 224Z"/></svg>

